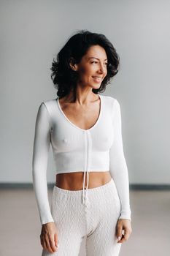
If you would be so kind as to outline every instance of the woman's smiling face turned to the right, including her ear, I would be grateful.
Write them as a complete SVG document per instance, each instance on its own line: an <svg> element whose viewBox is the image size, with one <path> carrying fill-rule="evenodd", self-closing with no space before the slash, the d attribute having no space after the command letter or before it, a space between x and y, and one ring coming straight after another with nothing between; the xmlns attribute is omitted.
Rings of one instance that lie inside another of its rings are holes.
<svg viewBox="0 0 170 256"><path fill-rule="evenodd" d="M79 64L74 64L79 73L79 86L90 86L98 89L102 80L107 75L107 54L100 45L93 45L88 49L88 53L82 56Z"/></svg>

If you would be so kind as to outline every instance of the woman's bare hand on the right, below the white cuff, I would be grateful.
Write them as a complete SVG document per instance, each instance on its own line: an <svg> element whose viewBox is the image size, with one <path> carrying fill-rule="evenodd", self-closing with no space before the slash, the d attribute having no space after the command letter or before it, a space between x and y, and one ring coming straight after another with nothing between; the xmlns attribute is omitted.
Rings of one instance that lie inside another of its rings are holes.
<svg viewBox="0 0 170 256"><path fill-rule="evenodd" d="M124 231L124 234L123 234ZM130 219L118 219L117 222L117 243L123 243L127 241L132 233L131 220ZM119 238L120 237L120 240Z"/></svg>

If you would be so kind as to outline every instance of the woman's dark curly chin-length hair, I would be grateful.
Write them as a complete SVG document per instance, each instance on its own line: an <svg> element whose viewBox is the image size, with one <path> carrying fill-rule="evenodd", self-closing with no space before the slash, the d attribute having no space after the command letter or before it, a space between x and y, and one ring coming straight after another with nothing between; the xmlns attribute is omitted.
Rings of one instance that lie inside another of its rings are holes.
<svg viewBox="0 0 170 256"><path fill-rule="evenodd" d="M98 89L92 89L93 93L98 94L106 89L110 83L110 78L118 72L120 57L118 56L112 43L104 34L96 34L87 30L80 30L69 38L66 45L60 50L57 59L53 59L51 79L54 87L57 89L58 97L64 97L71 90L75 90L77 86L78 74L70 68L69 63L71 58L74 58L75 63L80 63L82 56L88 52L88 48L93 45L100 45L107 53L107 76L101 83Z"/></svg>

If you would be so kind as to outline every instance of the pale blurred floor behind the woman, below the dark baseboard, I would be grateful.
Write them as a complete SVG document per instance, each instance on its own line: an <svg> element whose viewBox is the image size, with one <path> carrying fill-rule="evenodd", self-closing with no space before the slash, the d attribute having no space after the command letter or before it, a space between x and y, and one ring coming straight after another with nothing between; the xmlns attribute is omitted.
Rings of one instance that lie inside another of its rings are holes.
<svg viewBox="0 0 170 256"><path fill-rule="evenodd" d="M50 203L51 195L49 189ZM170 255L170 191L131 190L130 200L133 232L120 256ZM41 256L41 225L32 189L0 189L0 206L0 255ZM83 243L79 256L85 256Z"/></svg>

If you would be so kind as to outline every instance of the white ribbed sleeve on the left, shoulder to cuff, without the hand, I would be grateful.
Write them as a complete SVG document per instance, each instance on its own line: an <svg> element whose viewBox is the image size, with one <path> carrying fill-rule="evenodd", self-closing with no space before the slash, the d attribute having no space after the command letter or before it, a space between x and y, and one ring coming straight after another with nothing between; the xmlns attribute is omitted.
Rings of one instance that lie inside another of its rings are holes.
<svg viewBox="0 0 170 256"><path fill-rule="evenodd" d="M50 149L50 116L45 103L39 106L36 116L32 178L41 224L54 222L47 194L47 160Z"/></svg>

